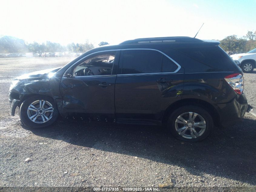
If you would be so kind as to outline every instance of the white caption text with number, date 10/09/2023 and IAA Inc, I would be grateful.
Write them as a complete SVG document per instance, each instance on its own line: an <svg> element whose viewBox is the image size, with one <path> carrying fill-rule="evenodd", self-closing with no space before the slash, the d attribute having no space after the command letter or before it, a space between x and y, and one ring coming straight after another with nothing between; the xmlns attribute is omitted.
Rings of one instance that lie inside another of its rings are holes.
<svg viewBox="0 0 256 192"><path fill-rule="evenodd" d="M155 187L94 187L94 191L160 191Z"/></svg>

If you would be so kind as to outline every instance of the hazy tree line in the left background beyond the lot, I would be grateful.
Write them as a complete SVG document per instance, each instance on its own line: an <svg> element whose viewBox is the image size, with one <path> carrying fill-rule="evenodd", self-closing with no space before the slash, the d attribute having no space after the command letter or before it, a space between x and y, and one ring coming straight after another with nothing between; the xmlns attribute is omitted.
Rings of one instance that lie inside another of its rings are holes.
<svg viewBox="0 0 256 192"><path fill-rule="evenodd" d="M98 45L107 45L100 42ZM59 43L46 41L44 43L27 43L23 39L12 36L0 36L0 53L25 53L25 52L86 52L93 49L94 45L86 40L84 43L69 43L64 46Z"/></svg>

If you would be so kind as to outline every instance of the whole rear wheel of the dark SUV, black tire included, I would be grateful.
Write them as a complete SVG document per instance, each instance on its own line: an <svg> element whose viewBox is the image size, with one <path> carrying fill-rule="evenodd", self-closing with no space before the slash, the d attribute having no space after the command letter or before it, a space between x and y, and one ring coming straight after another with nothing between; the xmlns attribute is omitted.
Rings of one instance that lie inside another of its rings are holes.
<svg viewBox="0 0 256 192"><path fill-rule="evenodd" d="M191 118L189 118L189 115L191 115ZM196 116L193 120L194 115ZM189 119L192 122L189 122ZM196 142L204 140L212 129L213 120L211 115L198 106L182 106L173 111L168 119L168 130L175 138L183 141ZM194 131L196 131L197 135Z"/></svg>

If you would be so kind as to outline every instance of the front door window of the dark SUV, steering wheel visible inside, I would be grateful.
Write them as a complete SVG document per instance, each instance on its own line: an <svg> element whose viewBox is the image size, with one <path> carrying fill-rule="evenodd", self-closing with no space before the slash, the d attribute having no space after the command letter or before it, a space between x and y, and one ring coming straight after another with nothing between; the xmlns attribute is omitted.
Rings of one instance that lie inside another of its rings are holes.
<svg viewBox="0 0 256 192"><path fill-rule="evenodd" d="M73 76L102 76L111 75L116 51L101 52L86 58L73 71Z"/></svg>

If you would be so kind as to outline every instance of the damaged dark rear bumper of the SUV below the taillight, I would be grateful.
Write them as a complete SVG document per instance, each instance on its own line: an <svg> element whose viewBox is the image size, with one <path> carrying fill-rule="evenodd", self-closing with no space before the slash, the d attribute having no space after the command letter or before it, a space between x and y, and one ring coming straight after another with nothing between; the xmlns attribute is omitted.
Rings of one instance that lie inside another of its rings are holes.
<svg viewBox="0 0 256 192"><path fill-rule="evenodd" d="M242 120L247 110L247 99L243 94L237 95L231 102L216 104L220 116L220 126L228 127Z"/></svg>

